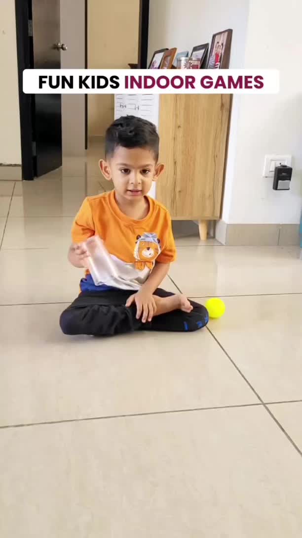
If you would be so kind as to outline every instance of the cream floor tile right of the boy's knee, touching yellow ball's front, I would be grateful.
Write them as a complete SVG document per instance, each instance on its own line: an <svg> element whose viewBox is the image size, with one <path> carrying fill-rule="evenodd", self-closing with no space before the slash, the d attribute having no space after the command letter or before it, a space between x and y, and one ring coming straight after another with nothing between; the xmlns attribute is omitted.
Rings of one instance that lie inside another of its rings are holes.
<svg viewBox="0 0 302 538"><path fill-rule="evenodd" d="M302 295L225 298L209 327L265 402L302 399Z"/></svg>

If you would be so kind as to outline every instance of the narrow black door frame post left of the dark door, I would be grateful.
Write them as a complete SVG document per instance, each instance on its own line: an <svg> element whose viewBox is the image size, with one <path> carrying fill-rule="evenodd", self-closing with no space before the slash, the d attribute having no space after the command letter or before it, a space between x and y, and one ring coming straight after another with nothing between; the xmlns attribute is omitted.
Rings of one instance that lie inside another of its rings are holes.
<svg viewBox="0 0 302 538"><path fill-rule="evenodd" d="M32 96L23 93L23 70L30 69L33 66L32 40L28 32L28 20L31 18L31 3L27 0L15 0L15 9L22 179L32 181L35 175L35 162L32 146L32 107L34 104Z"/></svg>

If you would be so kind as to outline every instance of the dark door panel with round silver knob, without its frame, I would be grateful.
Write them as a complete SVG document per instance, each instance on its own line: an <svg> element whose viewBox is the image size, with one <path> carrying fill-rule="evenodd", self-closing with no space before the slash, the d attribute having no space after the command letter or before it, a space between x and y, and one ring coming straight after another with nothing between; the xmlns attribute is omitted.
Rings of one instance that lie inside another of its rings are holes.
<svg viewBox="0 0 302 538"><path fill-rule="evenodd" d="M61 69L60 0L32 0L33 67ZM37 94L33 107L35 173L62 165L60 94Z"/></svg>

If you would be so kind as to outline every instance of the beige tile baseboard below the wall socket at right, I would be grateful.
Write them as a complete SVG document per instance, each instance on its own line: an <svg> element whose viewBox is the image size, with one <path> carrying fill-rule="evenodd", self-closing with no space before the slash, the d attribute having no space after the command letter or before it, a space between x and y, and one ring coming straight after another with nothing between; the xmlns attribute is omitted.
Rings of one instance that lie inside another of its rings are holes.
<svg viewBox="0 0 302 538"><path fill-rule="evenodd" d="M215 238L226 246L298 246L299 224L227 224L218 221Z"/></svg>

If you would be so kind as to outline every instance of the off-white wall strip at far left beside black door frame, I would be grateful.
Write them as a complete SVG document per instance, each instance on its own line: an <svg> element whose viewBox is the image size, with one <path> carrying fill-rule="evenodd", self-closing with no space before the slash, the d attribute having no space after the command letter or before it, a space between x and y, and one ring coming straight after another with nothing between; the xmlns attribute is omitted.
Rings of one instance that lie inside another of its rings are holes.
<svg viewBox="0 0 302 538"><path fill-rule="evenodd" d="M0 164L21 164L16 15L13 0L0 2Z"/></svg>

